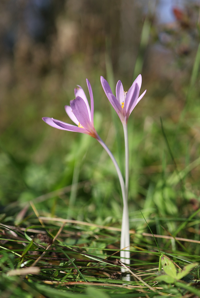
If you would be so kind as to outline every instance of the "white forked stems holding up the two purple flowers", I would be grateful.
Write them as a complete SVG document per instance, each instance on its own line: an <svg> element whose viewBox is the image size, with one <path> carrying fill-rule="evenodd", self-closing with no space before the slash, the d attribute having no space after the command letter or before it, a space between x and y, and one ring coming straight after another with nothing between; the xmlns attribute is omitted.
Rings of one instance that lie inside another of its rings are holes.
<svg viewBox="0 0 200 298"><path fill-rule="evenodd" d="M128 176L127 176L127 164L129 157L127 155L128 149L127 149L127 144L128 144L128 132L127 132L127 127L124 128L126 129L126 141L125 141L125 154L126 154L126 181L127 181L127 188L125 187L124 184L124 179L122 176L122 173L120 171L120 168L118 166L118 163L116 162L115 157L112 155L111 151L109 148L106 146L106 144L102 141L102 139L98 136L96 139L97 141L101 144L101 146L106 150L108 155L110 156L116 171L118 173L119 181L120 181L120 186L121 186L121 191L122 191L122 199L123 199L123 215L122 215L122 227L121 227L121 239L120 239L120 261L122 263L126 263L127 265L130 264L130 235L129 235L129 217L128 217ZM129 171L129 169L128 169ZM126 268L121 268L122 272L126 271ZM123 278L123 280L130 281L130 275L126 276Z"/></svg>

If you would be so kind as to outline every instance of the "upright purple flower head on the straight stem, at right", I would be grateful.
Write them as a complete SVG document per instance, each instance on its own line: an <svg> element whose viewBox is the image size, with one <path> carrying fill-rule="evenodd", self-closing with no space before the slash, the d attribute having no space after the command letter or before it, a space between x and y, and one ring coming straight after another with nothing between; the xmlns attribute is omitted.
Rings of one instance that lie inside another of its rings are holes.
<svg viewBox="0 0 200 298"><path fill-rule="evenodd" d="M134 107L136 106L137 103L139 103L139 101L146 93L146 90L145 90L142 93L142 95L140 95L139 97L139 91L142 85L142 76L139 75L134 80L128 92L124 92L122 82L118 81L116 85L116 97L112 93L112 90L110 89L110 86L107 80L105 80L104 77L102 76L101 76L101 85L104 89L104 92L109 102L111 103L111 105L117 112L118 116L120 117L122 124L127 124L128 117L130 116Z"/></svg>

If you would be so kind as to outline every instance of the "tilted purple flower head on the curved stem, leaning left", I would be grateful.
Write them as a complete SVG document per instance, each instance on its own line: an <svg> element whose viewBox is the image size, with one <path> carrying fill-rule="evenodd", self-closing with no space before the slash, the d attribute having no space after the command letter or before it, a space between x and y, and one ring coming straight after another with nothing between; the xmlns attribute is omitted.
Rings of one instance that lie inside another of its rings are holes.
<svg viewBox="0 0 200 298"><path fill-rule="evenodd" d="M88 104L87 97L83 89L78 86L74 89L75 99L70 100L70 106L65 106L65 111L69 118L77 125L68 124L60 120L49 117L43 117L42 120L48 125L66 131L77 131L83 134L89 134L93 138L97 138L97 132L94 128L93 115L94 115L94 100L90 82L86 79L88 90L91 100L91 110Z"/></svg>

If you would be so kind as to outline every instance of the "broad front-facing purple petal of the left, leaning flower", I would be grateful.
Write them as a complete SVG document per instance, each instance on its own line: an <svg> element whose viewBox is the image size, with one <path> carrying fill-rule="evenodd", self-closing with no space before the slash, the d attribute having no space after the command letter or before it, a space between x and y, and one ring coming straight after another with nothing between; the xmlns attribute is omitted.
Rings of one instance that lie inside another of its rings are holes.
<svg viewBox="0 0 200 298"><path fill-rule="evenodd" d="M81 97L77 96L74 100L70 100L70 106L79 123L87 131L91 131L92 124L84 100Z"/></svg>

